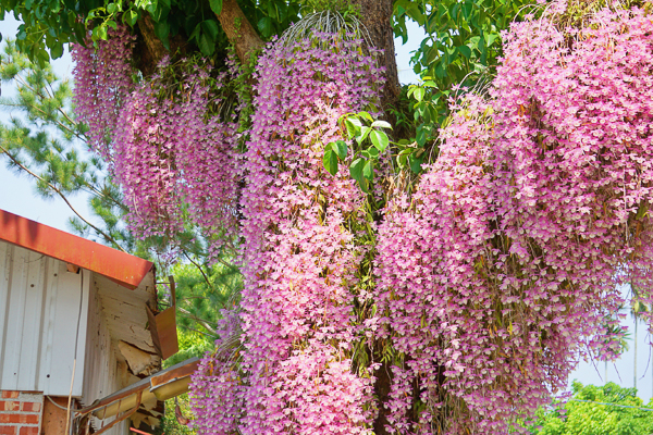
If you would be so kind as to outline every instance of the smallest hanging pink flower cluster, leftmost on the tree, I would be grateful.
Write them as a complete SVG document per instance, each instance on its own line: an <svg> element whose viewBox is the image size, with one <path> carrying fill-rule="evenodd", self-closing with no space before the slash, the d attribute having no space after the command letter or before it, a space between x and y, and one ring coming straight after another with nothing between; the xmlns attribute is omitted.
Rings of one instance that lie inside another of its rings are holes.
<svg viewBox="0 0 653 435"><path fill-rule="evenodd" d="M88 126L89 147L107 162L113 160L111 137L120 110L134 89L131 60L135 40L126 26L119 25L109 28L108 39L99 40L97 49L90 39L87 47L71 45L76 113Z"/></svg>

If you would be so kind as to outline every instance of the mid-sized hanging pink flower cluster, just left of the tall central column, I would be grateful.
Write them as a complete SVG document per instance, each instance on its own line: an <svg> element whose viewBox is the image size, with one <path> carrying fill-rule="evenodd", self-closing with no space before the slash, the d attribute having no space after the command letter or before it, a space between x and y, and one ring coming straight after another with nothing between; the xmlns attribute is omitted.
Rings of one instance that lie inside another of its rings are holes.
<svg viewBox="0 0 653 435"><path fill-rule="evenodd" d="M209 113L220 100L206 70L195 66L174 84L178 89L162 94L168 64L159 67L126 100L113 140L128 223L141 237L174 241L187 212L208 238L209 258L217 258L225 234L237 229L237 124Z"/></svg>

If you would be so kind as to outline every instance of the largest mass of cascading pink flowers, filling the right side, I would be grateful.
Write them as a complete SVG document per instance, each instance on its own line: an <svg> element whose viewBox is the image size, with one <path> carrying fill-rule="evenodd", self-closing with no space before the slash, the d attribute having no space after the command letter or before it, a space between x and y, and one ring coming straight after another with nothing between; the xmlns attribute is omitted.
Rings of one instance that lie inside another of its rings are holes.
<svg viewBox="0 0 653 435"><path fill-rule="evenodd" d="M392 433L507 433L611 356L619 284L651 301L653 21L559 28L565 8L513 25L491 98L457 108L380 226L375 298L405 355Z"/></svg>

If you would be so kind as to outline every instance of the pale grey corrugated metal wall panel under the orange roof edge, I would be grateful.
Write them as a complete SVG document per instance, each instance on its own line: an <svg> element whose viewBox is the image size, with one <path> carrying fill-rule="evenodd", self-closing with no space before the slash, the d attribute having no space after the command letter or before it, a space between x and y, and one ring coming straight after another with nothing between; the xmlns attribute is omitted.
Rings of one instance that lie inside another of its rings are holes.
<svg viewBox="0 0 653 435"><path fill-rule="evenodd" d="M0 241L0 389L82 395L91 273ZM77 326L78 323L78 326Z"/></svg>

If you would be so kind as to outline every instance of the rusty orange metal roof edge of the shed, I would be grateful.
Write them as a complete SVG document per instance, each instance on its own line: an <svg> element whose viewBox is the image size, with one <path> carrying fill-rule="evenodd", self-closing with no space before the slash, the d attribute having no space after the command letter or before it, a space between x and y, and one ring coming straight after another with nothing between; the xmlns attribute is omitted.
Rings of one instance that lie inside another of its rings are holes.
<svg viewBox="0 0 653 435"><path fill-rule="evenodd" d="M135 289L153 263L0 210L0 240L77 265Z"/></svg>

